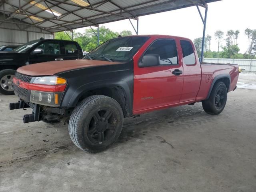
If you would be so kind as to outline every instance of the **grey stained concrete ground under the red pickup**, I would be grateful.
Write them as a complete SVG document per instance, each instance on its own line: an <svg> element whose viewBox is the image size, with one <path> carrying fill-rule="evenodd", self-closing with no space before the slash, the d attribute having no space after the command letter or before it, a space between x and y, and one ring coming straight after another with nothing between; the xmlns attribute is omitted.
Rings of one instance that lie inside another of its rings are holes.
<svg viewBox="0 0 256 192"><path fill-rule="evenodd" d="M126 118L98 154L78 149L66 125L23 124L30 110L8 110L15 96L0 100L1 192L256 192L254 90L229 93L218 116L197 103Z"/></svg>

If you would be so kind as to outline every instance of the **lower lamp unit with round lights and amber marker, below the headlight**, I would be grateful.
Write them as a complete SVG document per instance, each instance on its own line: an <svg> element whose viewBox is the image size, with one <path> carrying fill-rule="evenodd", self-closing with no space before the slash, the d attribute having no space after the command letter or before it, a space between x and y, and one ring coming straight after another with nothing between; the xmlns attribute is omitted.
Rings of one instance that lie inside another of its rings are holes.
<svg viewBox="0 0 256 192"><path fill-rule="evenodd" d="M43 92L31 90L30 102L56 107L60 105L63 92Z"/></svg>

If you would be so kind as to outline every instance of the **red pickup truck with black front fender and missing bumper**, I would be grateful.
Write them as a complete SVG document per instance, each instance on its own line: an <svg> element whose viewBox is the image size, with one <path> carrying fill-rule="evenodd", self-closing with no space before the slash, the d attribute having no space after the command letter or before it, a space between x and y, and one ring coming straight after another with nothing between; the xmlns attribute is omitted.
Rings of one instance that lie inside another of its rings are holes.
<svg viewBox="0 0 256 192"><path fill-rule="evenodd" d="M202 102L209 114L225 107L235 90L238 65L199 63L191 40L141 35L111 39L83 60L18 68L20 98L10 109L33 109L23 122L69 122L72 141L98 152L119 137L124 117Z"/></svg>

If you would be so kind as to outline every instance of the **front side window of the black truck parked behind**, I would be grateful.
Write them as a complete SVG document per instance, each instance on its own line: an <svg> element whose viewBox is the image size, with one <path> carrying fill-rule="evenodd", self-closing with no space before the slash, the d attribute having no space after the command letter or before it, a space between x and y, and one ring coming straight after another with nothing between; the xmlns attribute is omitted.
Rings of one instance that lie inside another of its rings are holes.
<svg viewBox="0 0 256 192"><path fill-rule="evenodd" d="M58 42L44 42L37 46L33 52L38 55L59 55L60 44Z"/></svg>

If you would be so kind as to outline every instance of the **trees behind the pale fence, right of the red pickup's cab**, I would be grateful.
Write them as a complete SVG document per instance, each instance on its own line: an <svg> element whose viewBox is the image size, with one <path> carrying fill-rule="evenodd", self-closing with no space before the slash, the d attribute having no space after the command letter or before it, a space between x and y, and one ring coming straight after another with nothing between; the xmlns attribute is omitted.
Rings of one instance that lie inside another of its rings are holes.
<svg viewBox="0 0 256 192"><path fill-rule="evenodd" d="M226 38L224 39L224 32L217 30L214 33L214 38L218 42L218 51L211 51L210 45L212 41L212 36L209 34L205 38L204 43L204 58L234 58L234 59L255 59L256 58L256 29L252 30L246 28L244 30L244 35L248 37L248 50L244 54L238 53L240 48L238 46L238 37L239 30L228 30L225 34ZM222 46L222 41L225 41L226 44ZM202 38L196 38L194 40L194 45L198 55L201 55L202 50ZM220 51L220 48L222 49Z"/></svg>

